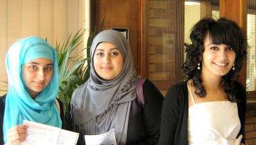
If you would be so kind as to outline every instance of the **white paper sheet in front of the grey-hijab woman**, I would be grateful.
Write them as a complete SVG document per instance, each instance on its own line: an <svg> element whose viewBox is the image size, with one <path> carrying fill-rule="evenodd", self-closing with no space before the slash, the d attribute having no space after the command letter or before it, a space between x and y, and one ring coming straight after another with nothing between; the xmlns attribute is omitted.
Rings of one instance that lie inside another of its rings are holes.
<svg viewBox="0 0 256 145"><path fill-rule="evenodd" d="M105 134L99 135L85 135L86 145L117 145L117 141L114 136L114 129L110 129Z"/></svg>

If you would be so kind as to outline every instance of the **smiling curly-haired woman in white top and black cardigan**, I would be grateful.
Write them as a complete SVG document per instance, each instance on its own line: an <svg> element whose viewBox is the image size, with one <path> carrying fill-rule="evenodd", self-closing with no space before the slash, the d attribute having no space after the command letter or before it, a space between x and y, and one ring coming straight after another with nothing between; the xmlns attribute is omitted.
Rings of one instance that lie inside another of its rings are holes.
<svg viewBox="0 0 256 145"><path fill-rule="evenodd" d="M159 144L244 144L246 94L233 77L246 58L245 35L227 18L203 18L190 38L186 81L166 94Z"/></svg>

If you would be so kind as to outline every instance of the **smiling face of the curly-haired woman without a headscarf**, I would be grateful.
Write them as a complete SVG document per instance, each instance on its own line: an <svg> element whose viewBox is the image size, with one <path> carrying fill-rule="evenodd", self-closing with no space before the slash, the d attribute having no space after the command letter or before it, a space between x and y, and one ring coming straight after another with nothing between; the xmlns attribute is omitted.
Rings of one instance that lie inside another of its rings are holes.
<svg viewBox="0 0 256 145"><path fill-rule="evenodd" d="M204 41L202 73L204 76L222 77L226 75L235 63L235 51L229 45L216 45L206 35Z"/></svg>

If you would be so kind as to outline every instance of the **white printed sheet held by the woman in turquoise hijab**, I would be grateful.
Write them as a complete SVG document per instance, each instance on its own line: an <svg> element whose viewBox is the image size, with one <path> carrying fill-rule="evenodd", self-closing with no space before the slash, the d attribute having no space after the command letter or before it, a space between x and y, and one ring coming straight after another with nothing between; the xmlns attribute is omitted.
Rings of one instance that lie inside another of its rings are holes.
<svg viewBox="0 0 256 145"><path fill-rule="evenodd" d="M26 140L21 145L69 145L76 144L78 133L59 129L46 124L24 121L23 124L28 126Z"/></svg>

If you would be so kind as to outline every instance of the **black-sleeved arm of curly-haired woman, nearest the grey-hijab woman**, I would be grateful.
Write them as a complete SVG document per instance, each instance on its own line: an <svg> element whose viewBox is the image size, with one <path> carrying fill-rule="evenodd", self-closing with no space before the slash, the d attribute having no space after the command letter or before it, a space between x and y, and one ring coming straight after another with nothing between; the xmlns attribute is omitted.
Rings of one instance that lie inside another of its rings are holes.
<svg viewBox="0 0 256 145"><path fill-rule="evenodd" d="M161 112L161 131L159 145L172 145L174 144L174 137L178 126L179 116L181 114L181 90L178 86L171 87L166 94ZM184 136L184 139L186 137Z"/></svg>

